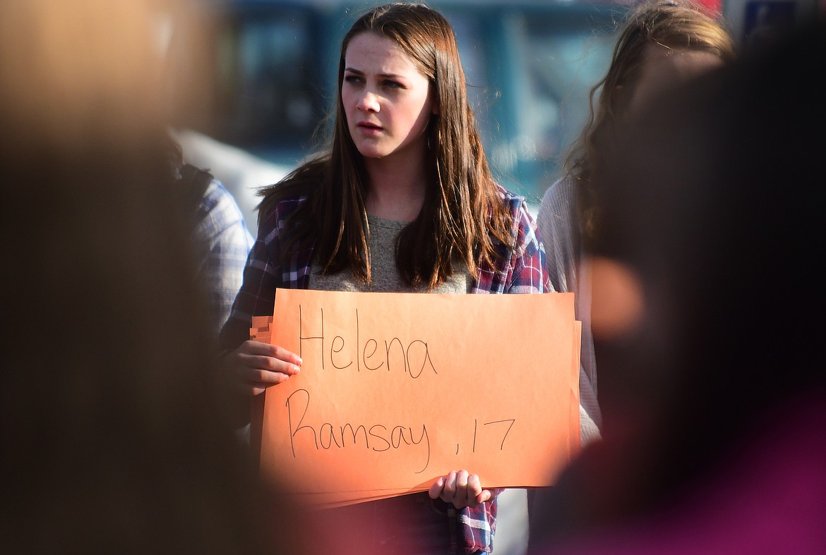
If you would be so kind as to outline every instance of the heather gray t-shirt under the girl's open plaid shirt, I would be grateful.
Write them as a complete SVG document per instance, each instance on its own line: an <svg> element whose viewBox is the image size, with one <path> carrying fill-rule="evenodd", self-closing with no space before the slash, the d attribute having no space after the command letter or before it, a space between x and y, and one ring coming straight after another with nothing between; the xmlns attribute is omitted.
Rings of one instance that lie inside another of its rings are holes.
<svg viewBox="0 0 826 555"><path fill-rule="evenodd" d="M426 287L414 289L401 279L396 267L396 238L407 222L367 217L370 248L370 273L372 283L367 285L358 280L349 270L336 274L321 275L321 266L314 261L310 272L310 289L321 291L373 291L376 293L425 293ZM467 265L454 263L458 270L447 281L434 289L433 293L468 293L473 280L468 275Z"/></svg>

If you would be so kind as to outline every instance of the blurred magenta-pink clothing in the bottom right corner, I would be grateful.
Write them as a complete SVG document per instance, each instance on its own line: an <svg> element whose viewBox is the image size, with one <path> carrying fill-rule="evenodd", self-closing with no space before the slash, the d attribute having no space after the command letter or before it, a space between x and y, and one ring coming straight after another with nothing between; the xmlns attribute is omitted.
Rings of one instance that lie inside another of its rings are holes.
<svg viewBox="0 0 826 555"><path fill-rule="evenodd" d="M826 553L826 392L786 408L707 484L657 515L535 553Z"/></svg>

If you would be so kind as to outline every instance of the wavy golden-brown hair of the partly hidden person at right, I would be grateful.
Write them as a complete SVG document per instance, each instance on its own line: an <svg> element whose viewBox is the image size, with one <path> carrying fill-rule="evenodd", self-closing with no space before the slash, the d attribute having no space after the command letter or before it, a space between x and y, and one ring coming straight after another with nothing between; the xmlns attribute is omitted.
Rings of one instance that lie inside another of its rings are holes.
<svg viewBox="0 0 826 555"><path fill-rule="evenodd" d="M734 58L729 29L714 13L691 0L653 0L634 8L624 20L605 77L591 88L591 114L564 163L567 175L577 180L577 195L586 240L595 233L600 203L591 176L604 139L624 113L625 102L637 84L647 45L708 52L724 62ZM619 92L620 88L624 92ZM596 98L596 103L595 103Z"/></svg>

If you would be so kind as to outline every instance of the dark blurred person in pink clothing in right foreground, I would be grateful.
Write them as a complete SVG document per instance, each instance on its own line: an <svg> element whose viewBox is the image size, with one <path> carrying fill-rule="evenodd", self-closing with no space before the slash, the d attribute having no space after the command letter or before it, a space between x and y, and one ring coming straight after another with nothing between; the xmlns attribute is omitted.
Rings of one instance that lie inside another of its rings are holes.
<svg viewBox="0 0 826 555"><path fill-rule="evenodd" d="M826 553L824 67L819 21L611 137L588 246L603 440L529 553Z"/></svg>

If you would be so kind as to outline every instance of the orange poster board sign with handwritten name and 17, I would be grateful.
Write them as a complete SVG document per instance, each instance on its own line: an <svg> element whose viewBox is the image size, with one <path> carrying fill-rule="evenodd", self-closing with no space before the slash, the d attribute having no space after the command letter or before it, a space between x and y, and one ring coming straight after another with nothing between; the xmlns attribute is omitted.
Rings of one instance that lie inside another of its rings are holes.
<svg viewBox="0 0 826 555"><path fill-rule="evenodd" d="M253 326L303 360L264 393L261 472L317 504L461 468L486 488L551 485L579 450L573 294L278 289Z"/></svg>

